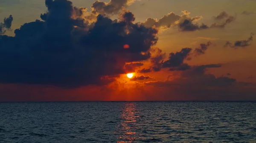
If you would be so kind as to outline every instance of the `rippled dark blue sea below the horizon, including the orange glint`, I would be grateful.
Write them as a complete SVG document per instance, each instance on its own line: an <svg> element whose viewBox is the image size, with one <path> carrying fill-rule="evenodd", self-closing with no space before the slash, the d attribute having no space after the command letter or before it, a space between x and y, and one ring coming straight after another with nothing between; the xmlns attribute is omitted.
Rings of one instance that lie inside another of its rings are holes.
<svg viewBox="0 0 256 143"><path fill-rule="evenodd" d="M0 143L256 143L256 102L0 103Z"/></svg>

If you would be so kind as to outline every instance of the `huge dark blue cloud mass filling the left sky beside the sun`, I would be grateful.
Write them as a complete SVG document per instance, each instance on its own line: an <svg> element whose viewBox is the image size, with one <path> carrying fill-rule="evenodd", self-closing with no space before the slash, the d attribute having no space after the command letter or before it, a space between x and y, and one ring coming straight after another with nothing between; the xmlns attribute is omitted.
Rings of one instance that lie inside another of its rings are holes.
<svg viewBox="0 0 256 143"><path fill-rule="evenodd" d="M151 46L157 43L157 30L134 23L130 12L119 20L99 14L88 24L83 9L68 0L45 4L43 21L21 25L14 37L0 36L1 83L108 84L125 73L126 63L149 59ZM126 44L128 49L123 48Z"/></svg>

